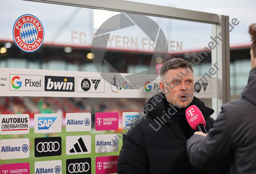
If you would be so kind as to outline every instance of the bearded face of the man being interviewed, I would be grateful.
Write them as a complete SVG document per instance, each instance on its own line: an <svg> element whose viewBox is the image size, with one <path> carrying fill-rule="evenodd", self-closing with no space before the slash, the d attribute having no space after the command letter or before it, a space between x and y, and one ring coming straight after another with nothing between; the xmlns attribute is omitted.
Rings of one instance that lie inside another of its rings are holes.
<svg viewBox="0 0 256 174"><path fill-rule="evenodd" d="M194 97L194 75L188 68L187 71L184 68L169 69L165 82L159 83L167 101L172 105L178 104L182 108L188 107ZM183 93L187 95L187 101L185 101L186 97Z"/></svg>

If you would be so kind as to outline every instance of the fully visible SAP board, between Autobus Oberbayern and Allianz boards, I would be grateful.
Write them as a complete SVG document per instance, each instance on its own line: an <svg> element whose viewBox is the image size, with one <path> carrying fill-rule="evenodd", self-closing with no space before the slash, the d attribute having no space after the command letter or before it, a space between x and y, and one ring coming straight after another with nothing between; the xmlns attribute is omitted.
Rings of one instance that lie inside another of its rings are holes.
<svg viewBox="0 0 256 174"><path fill-rule="evenodd" d="M35 133L61 132L60 113L37 113L35 118Z"/></svg>

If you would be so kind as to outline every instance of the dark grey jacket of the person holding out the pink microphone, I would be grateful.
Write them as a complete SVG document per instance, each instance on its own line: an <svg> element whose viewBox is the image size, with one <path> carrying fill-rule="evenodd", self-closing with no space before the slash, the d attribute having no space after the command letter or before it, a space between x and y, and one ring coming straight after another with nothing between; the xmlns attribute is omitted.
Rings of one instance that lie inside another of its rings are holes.
<svg viewBox="0 0 256 174"><path fill-rule="evenodd" d="M230 159L230 173L256 173L256 67L242 98L222 105L214 128L188 143L189 159L197 169L218 168Z"/></svg>

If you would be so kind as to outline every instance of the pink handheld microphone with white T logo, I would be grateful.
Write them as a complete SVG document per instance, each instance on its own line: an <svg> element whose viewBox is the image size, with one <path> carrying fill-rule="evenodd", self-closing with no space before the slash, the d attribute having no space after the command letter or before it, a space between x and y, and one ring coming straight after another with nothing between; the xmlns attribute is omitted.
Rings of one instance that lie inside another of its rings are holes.
<svg viewBox="0 0 256 174"><path fill-rule="evenodd" d="M192 105L186 109L186 118L192 129L205 134L207 133L205 129L205 118L197 106Z"/></svg>

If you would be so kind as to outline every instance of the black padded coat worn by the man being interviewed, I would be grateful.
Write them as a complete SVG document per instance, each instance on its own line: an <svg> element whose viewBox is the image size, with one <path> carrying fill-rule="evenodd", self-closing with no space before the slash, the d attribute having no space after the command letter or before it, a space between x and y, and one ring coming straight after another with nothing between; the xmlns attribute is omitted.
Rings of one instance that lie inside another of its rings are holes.
<svg viewBox="0 0 256 174"><path fill-rule="evenodd" d="M168 113L168 107L161 96L163 94L155 96L160 102L154 97L148 100L145 105L147 111L144 110L148 112L147 115L127 132L119 155L118 173L218 173L218 170L198 172L191 166L187 156L187 138L183 131L171 120L172 118L161 119L163 111ZM149 103L151 105L148 105ZM209 131L214 124L214 119L210 118L214 110L205 107L204 102L196 97L190 105L196 105L202 111L206 120L206 130ZM174 109L169 110L171 114L174 112ZM162 123L158 119L161 119ZM161 127L155 131L150 125L155 130ZM189 130L190 137L195 131L191 127Z"/></svg>

